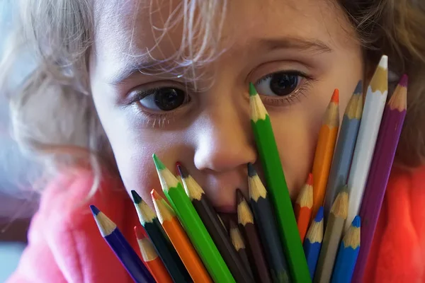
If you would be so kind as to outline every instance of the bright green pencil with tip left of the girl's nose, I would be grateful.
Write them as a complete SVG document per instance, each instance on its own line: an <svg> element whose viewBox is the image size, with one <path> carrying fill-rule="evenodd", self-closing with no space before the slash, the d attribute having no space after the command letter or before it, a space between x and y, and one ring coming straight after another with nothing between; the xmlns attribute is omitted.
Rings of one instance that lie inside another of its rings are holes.
<svg viewBox="0 0 425 283"><path fill-rule="evenodd" d="M154 154L153 156L162 190L169 200L200 259L207 268L214 282L235 282L225 261L205 225L200 219L191 200L176 177L164 166L164 163Z"/></svg>

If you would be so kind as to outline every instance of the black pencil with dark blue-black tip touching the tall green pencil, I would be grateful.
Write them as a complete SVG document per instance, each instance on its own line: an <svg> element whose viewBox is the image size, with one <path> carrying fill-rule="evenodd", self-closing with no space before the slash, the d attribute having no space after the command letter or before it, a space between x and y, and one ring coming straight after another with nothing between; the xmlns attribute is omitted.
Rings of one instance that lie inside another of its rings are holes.
<svg viewBox="0 0 425 283"><path fill-rule="evenodd" d="M273 207L266 187L261 183L259 175L251 163L248 163L248 184L249 200L256 226L259 229L261 243L263 243L272 282L289 282L288 266L280 243Z"/></svg>

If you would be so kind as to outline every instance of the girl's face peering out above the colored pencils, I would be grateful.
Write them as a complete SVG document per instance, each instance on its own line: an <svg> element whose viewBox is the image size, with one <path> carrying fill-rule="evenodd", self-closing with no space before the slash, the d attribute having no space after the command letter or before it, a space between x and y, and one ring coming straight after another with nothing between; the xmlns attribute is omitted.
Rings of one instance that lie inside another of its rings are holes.
<svg viewBox="0 0 425 283"><path fill-rule="evenodd" d="M179 3L149 2L95 4L91 91L127 190L149 203L150 190L161 190L156 153L174 173L176 161L183 163L218 212L234 212L234 191L247 190L246 163L259 163L249 119L251 81L271 116L296 197L311 171L334 88L342 115L363 78L361 46L344 11L329 0L228 1L220 40L208 40L207 53L217 47L220 56L161 71L190 50L177 52L181 23L161 37ZM217 18L212 28L219 25ZM198 50L202 35L195 36Z"/></svg>

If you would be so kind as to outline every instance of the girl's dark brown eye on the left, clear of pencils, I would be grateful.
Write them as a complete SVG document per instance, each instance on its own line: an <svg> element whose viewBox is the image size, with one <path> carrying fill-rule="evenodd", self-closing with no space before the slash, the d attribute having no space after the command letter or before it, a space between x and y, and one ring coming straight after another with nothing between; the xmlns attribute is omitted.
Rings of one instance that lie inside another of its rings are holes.
<svg viewBox="0 0 425 283"><path fill-rule="evenodd" d="M186 93L179 88L153 88L142 94L139 103L149 109L157 111L171 111L188 102Z"/></svg>

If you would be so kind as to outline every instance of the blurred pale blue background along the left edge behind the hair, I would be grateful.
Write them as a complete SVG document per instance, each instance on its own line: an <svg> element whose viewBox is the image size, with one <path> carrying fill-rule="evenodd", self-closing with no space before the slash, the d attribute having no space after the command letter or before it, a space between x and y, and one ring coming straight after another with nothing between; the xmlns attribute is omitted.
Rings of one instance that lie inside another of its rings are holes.
<svg viewBox="0 0 425 283"><path fill-rule="evenodd" d="M16 2L0 0L0 57L13 28ZM21 58L13 73L14 84L20 83L33 65L29 54ZM18 150L8 116L8 100L0 89L0 282L5 282L18 265L30 219L38 207L38 195L31 192L28 180L38 168Z"/></svg>

